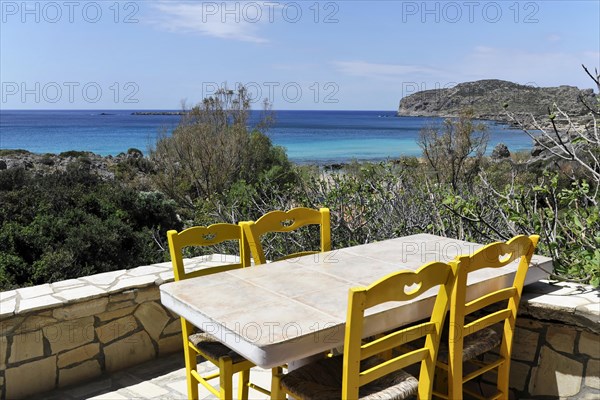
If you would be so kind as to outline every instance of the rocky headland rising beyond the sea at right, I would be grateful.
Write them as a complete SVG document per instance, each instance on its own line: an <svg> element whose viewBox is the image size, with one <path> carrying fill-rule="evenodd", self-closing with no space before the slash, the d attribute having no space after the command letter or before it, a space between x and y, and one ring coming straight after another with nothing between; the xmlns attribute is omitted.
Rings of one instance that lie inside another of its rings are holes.
<svg viewBox="0 0 600 400"><path fill-rule="evenodd" d="M552 139L557 134L562 142L582 138L580 141L585 142L585 137L591 135L594 129L591 110L597 110L597 105L598 94L593 89L582 90L567 85L535 87L485 79L406 96L400 100L398 116L446 118L456 117L469 109L477 119L508 123L528 130L541 129L548 134L536 134L531 151L531 161L535 162L548 161L557 154L563 154L564 149ZM497 154L507 151L504 148L494 150Z"/></svg>

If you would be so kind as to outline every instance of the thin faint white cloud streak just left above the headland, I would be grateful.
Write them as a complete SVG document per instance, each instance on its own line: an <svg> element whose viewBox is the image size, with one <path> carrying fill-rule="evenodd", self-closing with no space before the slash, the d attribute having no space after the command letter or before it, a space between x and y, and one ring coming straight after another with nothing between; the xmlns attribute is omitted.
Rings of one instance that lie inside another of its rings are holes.
<svg viewBox="0 0 600 400"><path fill-rule="evenodd" d="M409 75L434 75L440 71L420 65L377 64L366 61L335 61L334 66L342 74L363 78L405 78Z"/></svg>

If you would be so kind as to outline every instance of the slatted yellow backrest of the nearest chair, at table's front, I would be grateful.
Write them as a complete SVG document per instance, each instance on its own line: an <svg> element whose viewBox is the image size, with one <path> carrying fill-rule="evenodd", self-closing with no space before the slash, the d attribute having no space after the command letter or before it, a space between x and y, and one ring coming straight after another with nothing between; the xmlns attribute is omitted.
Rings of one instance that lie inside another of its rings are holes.
<svg viewBox="0 0 600 400"><path fill-rule="evenodd" d="M455 282L454 268L451 264L432 262L415 272L396 272L368 287L350 289L344 340L343 399L356 399L361 386L417 363L421 363L418 397L431 398L440 337ZM439 290L428 322L384 334L363 344L361 340L365 310L389 301L415 299L435 286L439 286ZM370 362L368 369L361 370L362 360L381 353L389 354L391 349L422 337L425 337L423 347L403 352L391 359L376 357L375 361L379 364L374 366Z"/></svg>

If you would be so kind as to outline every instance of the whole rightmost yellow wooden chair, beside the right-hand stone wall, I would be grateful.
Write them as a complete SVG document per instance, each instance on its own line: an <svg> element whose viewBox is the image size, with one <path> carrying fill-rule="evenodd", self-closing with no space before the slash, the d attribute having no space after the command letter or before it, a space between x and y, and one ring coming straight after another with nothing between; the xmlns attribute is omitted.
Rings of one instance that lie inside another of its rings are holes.
<svg viewBox="0 0 600 400"><path fill-rule="evenodd" d="M448 365L442 364L449 371L450 399L462 399L463 392L479 399L486 398L463 385L496 369L496 393L489 398L509 398L510 356L517 310L525 276L538 240L537 235L529 237L521 235L506 243L489 244L471 256L457 257L458 273L450 304ZM519 260L519 265L512 285L467 301L467 278L470 273L484 268L500 268L514 260ZM492 305L496 306L492 311L483 310ZM498 309L498 306L501 308ZM496 324L501 324L502 333L492 328L492 325ZM486 363L476 360L476 357L498 346L500 346L499 356L495 360ZM443 358L440 356L440 361ZM465 376L463 376L463 361L469 361L469 365L475 367L474 371L469 371Z"/></svg>

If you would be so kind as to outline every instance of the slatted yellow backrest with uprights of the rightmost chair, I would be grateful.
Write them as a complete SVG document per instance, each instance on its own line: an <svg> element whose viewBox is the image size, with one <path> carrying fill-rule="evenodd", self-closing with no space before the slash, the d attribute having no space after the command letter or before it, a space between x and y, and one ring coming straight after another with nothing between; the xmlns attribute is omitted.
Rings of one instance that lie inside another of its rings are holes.
<svg viewBox="0 0 600 400"><path fill-rule="evenodd" d="M457 257L455 262L457 263L458 272L450 304L448 343L450 398L462 398L462 363L465 336L497 323L503 323L500 359L507 360L507 362L510 360L519 301L523 292L525 276L538 240L539 236L537 235L520 235L506 243L491 243L470 256ZM519 260L519 264L511 285L467 302L467 279L471 272L483 268L504 267L515 260ZM481 311L492 305L495 305L492 311L488 313ZM500 306L500 309L498 309L498 306ZM480 312L475 317L473 313L476 311ZM465 316L467 315L471 315L473 319L469 318L469 322L465 324ZM498 382L506 382L506 385L508 385L508 376L500 376L503 373L501 371L508 371L508 368L500 369L498 375ZM508 397L508 393L503 395Z"/></svg>

